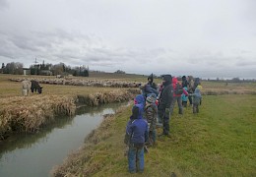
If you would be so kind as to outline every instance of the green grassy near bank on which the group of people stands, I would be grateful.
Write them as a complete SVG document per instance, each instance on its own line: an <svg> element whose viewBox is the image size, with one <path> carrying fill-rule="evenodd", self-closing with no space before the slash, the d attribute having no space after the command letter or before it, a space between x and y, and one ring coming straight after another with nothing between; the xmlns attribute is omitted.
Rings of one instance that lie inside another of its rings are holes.
<svg viewBox="0 0 256 177"><path fill-rule="evenodd" d="M206 95L197 115L187 108L180 116L175 107L171 138L150 148L144 174L134 176L255 176L255 102L255 95ZM53 175L130 176L123 144L130 114L131 107L105 118Z"/></svg>

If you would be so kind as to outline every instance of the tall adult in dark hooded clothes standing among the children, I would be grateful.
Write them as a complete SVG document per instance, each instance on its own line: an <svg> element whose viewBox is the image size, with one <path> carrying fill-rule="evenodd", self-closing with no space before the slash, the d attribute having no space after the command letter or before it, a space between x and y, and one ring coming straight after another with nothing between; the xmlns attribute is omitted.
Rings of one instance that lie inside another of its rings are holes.
<svg viewBox="0 0 256 177"><path fill-rule="evenodd" d="M171 85L171 75L162 76L163 89L160 93L159 100L159 118L163 123L162 134L160 136L169 137L169 118L170 118L170 104L173 99L173 88Z"/></svg>

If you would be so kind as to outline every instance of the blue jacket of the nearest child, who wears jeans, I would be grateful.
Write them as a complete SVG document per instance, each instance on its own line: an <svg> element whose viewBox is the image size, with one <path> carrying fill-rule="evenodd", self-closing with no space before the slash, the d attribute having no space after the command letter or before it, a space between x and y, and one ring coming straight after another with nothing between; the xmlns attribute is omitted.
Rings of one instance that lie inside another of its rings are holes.
<svg viewBox="0 0 256 177"><path fill-rule="evenodd" d="M126 134L130 137L131 144L144 144L148 141L148 122L143 119L144 104L135 104L139 108L138 117L131 117L126 126Z"/></svg>

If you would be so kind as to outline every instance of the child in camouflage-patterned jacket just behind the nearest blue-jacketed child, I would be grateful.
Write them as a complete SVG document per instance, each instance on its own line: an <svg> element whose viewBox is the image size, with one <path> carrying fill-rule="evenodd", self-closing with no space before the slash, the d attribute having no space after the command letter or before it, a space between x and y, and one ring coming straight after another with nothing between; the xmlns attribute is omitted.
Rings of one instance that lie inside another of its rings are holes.
<svg viewBox="0 0 256 177"><path fill-rule="evenodd" d="M156 143L156 124L158 117L156 97L153 95L147 97L145 106L145 117L148 121L149 127L149 141L147 144L151 147L154 146Z"/></svg>

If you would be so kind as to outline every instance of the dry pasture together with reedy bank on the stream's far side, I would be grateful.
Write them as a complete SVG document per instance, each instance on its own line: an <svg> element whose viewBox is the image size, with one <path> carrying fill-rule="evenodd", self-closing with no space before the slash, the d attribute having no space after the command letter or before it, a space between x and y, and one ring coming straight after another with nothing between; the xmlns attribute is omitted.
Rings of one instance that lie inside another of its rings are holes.
<svg viewBox="0 0 256 177"><path fill-rule="evenodd" d="M139 91L45 84L41 85L42 94L30 92L29 96L22 96L21 82L9 80L20 77L0 74L0 141L10 133L36 132L58 115L73 115L79 104L96 106L121 102L132 98ZM41 80L53 78L38 77Z"/></svg>

